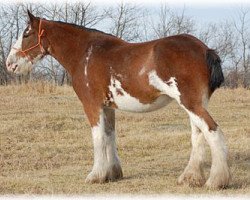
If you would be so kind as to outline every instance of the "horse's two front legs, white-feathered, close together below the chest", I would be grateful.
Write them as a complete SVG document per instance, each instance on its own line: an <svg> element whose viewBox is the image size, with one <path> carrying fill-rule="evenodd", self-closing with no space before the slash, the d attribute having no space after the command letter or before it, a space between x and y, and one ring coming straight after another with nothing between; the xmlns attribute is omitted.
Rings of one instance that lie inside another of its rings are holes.
<svg viewBox="0 0 250 200"><path fill-rule="evenodd" d="M86 183L104 183L122 178L115 141L115 110L102 108L99 121L91 124L94 144L94 166Z"/></svg>

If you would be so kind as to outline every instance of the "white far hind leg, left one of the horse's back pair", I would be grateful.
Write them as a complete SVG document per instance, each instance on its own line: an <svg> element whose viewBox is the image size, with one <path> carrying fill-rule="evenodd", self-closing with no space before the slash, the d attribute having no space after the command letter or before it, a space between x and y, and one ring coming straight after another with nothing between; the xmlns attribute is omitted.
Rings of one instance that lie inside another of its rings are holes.
<svg viewBox="0 0 250 200"><path fill-rule="evenodd" d="M178 178L178 184L200 187L205 183L203 173L203 162L205 158L204 135L191 119L190 123L192 129L192 151L188 165Z"/></svg>

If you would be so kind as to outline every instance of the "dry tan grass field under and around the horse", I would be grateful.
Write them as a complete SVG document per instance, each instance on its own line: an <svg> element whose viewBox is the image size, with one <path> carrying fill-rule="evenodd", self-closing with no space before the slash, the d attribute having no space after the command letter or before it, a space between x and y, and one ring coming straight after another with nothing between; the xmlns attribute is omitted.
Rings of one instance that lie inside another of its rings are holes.
<svg viewBox="0 0 250 200"><path fill-rule="evenodd" d="M209 110L229 146L228 189L177 185L189 159L191 130L175 102L146 114L117 111L124 179L88 185L92 139L73 89L45 83L0 87L0 194L250 195L250 90L219 89Z"/></svg>

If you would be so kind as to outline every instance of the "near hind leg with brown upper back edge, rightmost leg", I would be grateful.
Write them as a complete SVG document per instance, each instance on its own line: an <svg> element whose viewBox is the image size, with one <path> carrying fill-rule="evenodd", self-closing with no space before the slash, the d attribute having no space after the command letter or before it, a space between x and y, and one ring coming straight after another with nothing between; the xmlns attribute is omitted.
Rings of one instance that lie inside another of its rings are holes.
<svg viewBox="0 0 250 200"><path fill-rule="evenodd" d="M204 134L211 149L212 166L206 186L215 189L227 187L230 172L227 164L227 147L222 131L202 105L196 105L191 109L184 105L184 108L192 123Z"/></svg>

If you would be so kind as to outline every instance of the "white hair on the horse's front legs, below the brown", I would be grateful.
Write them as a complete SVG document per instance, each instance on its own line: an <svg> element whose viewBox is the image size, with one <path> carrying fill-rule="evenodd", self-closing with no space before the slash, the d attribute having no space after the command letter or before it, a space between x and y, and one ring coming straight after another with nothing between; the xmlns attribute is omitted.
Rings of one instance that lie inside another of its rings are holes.
<svg viewBox="0 0 250 200"><path fill-rule="evenodd" d="M120 165L118 158L116 143L115 143L115 130L105 132L105 126L108 126L106 115L103 111L100 114L98 124L92 127L92 138L94 143L94 166L91 173L97 173L100 176L112 171L114 165ZM91 173L89 176L91 176Z"/></svg>

